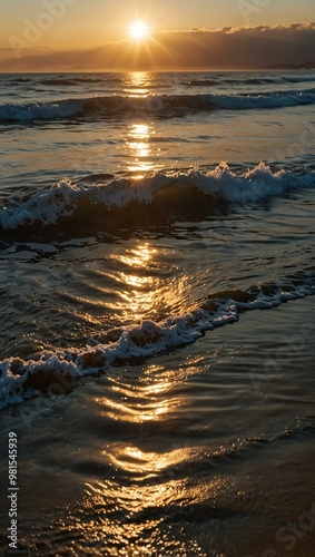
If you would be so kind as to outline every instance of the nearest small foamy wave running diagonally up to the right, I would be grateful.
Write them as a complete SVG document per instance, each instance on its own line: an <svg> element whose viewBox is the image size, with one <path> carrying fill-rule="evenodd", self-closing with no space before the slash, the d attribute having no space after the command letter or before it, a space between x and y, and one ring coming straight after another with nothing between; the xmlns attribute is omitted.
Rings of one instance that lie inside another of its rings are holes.
<svg viewBox="0 0 315 557"><path fill-rule="evenodd" d="M82 377L193 343L206 331L238 321L242 312L272 309L312 294L315 294L315 272L308 270L284 284L256 285L245 292L211 295L194 311L158 323L147 320L139 325L100 333L82 349L42 351L28 361L8 358L0 362L0 409L39 393L65 394Z"/></svg>

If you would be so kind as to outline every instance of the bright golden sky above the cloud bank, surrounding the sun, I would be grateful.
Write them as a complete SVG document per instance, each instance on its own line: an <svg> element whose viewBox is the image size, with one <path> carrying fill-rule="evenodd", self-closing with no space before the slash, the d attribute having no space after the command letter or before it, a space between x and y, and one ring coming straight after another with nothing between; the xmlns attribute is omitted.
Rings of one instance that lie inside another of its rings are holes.
<svg viewBox="0 0 315 557"><path fill-rule="evenodd" d="M124 40L126 27L137 20L149 22L158 33L314 21L314 0L2 0L0 4L3 48L10 36L23 40L32 36L37 45L48 47L108 43Z"/></svg>

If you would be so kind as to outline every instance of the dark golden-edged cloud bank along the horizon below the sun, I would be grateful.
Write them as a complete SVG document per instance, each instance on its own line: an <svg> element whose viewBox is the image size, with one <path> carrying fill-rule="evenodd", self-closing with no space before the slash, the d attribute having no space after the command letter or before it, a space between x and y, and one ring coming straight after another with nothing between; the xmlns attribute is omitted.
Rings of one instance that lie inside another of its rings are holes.
<svg viewBox="0 0 315 557"><path fill-rule="evenodd" d="M315 22L168 30L144 43L46 47L0 53L1 71L254 69L315 62Z"/></svg>

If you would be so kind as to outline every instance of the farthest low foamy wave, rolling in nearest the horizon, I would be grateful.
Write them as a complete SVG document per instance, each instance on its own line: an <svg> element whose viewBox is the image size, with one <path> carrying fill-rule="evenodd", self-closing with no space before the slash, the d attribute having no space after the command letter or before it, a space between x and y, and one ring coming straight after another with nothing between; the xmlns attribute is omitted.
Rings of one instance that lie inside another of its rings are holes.
<svg viewBox="0 0 315 557"><path fill-rule="evenodd" d="M105 96L52 102L2 104L0 121L30 123L60 118L124 117L150 114L168 118L215 109L263 109L315 104L315 89L228 95L151 95L148 97Z"/></svg>

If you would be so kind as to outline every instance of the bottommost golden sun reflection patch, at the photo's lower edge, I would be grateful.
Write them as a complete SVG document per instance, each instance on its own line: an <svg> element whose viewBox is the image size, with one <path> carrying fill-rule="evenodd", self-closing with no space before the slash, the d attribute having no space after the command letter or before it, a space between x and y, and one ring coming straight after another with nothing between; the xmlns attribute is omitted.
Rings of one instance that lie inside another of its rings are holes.
<svg viewBox="0 0 315 557"><path fill-rule="evenodd" d="M77 528L83 530L85 541L90 541L90 547L101 543L108 549L107 555L206 557L209 554L194 536L194 522L189 528L194 518L191 510L197 505L199 519L207 514L210 517L216 499L234 486L233 481L220 477L204 485L189 483L187 478L175 477L163 483L152 480L119 486L110 479L86 482ZM215 554L211 551L211 555Z"/></svg>

